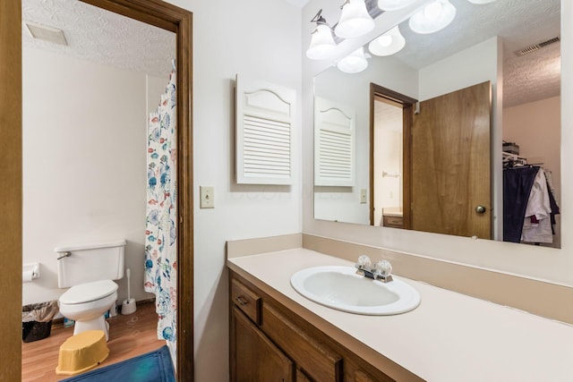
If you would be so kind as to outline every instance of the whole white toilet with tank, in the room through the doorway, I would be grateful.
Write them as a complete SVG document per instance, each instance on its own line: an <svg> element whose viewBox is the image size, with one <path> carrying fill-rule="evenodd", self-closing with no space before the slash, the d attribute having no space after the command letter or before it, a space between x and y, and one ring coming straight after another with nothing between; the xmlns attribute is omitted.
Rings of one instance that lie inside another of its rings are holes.
<svg viewBox="0 0 573 382"><path fill-rule="evenodd" d="M73 334L103 330L104 314L117 301L117 284L124 276L125 241L57 247L57 284L70 287L59 299L60 312L75 321Z"/></svg>

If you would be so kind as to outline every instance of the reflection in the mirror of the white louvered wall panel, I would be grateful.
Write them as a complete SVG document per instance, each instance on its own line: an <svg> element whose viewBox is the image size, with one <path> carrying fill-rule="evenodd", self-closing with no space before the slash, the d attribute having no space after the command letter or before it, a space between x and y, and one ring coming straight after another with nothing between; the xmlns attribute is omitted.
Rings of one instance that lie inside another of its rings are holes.
<svg viewBox="0 0 573 382"><path fill-rule="evenodd" d="M354 186L355 110L314 98L314 185Z"/></svg>

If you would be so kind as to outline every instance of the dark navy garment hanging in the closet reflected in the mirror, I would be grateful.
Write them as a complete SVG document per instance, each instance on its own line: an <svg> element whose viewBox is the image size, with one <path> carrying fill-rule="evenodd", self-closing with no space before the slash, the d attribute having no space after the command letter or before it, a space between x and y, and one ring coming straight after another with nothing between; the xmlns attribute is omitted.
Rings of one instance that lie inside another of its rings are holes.
<svg viewBox="0 0 573 382"><path fill-rule="evenodd" d="M521 242L529 194L538 166L503 170L503 241Z"/></svg>

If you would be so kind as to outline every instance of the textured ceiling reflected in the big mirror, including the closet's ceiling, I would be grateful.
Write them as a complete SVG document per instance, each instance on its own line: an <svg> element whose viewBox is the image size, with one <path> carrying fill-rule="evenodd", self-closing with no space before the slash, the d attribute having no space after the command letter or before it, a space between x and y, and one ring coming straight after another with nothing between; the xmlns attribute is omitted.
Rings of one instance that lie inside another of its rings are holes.
<svg viewBox="0 0 573 382"><path fill-rule="evenodd" d="M400 24L406 47L397 56L404 63L422 68L499 36L503 40L503 103L515 106L560 94L560 43L517 57L513 52L560 36L560 0L497 0L471 4L449 0L456 18L444 30L416 34Z"/></svg>

